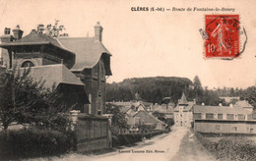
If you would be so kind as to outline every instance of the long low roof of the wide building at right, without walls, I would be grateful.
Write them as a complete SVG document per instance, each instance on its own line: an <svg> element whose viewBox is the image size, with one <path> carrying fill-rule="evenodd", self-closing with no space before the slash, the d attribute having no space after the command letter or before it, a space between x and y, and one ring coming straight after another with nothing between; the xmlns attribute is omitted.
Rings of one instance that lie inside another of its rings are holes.
<svg viewBox="0 0 256 161"><path fill-rule="evenodd" d="M194 113L214 113L214 114L251 114L251 112L239 106L194 106Z"/></svg>

